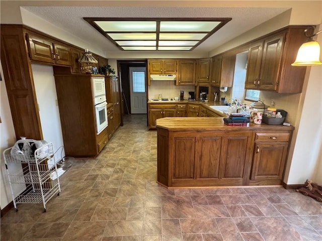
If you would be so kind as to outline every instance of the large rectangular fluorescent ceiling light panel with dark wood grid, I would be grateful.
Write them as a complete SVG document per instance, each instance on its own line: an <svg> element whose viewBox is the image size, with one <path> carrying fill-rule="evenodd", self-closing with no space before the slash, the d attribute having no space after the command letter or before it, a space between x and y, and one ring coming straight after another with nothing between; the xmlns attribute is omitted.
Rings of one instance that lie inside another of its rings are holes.
<svg viewBox="0 0 322 241"><path fill-rule="evenodd" d="M84 18L121 50L191 51L231 18Z"/></svg>

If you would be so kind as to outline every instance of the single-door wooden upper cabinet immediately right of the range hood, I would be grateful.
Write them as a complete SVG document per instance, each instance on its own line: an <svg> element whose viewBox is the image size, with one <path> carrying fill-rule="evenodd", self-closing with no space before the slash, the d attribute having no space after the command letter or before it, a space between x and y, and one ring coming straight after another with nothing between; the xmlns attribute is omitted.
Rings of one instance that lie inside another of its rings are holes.
<svg viewBox="0 0 322 241"><path fill-rule="evenodd" d="M176 85L195 85L196 60L179 60Z"/></svg>

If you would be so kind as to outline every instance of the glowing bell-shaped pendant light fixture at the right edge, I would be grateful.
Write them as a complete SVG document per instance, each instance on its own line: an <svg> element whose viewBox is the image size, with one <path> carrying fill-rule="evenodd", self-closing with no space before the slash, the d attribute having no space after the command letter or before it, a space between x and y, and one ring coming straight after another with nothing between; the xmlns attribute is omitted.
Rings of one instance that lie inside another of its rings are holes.
<svg viewBox="0 0 322 241"><path fill-rule="evenodd" d="M315 34L307 35L306 32L311 28L314 30L314 27L309 27L304 30L304 34L308 40L298 49L296 60L291 64L292 66L312 66L322 64L319 60L320 45L317 41L313 40L313 37L322 33L322 30Z"/></svg>

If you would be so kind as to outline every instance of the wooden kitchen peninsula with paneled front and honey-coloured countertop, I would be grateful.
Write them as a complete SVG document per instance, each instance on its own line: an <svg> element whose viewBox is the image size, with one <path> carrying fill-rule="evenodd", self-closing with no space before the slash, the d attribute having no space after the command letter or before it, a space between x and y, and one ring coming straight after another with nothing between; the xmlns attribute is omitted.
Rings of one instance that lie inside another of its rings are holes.
<svg viewBox="0 0 322 241"><path fill-rule="evenodd" d="M166 117L156 129L157 183L174 188L281 184L294 127Z"/></svg>

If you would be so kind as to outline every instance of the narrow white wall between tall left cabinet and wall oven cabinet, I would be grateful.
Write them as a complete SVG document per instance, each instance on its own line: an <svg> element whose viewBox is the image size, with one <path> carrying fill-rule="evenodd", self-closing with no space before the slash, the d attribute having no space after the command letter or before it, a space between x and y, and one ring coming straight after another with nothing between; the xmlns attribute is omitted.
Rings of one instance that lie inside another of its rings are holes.
<svg viewBox="0 0 322 241"><path fill-rule="evenodd" d="M54 151L57 151L59 147L63 146L63 139L53 68L52 66L40 64L32 64L31 67L43 138L47 142L52 142ZM56 162L65 156L65 152L61 153L61 150L55 154ZM50 163L48 164L50 165Z"/></svg>

